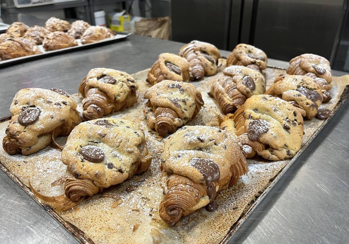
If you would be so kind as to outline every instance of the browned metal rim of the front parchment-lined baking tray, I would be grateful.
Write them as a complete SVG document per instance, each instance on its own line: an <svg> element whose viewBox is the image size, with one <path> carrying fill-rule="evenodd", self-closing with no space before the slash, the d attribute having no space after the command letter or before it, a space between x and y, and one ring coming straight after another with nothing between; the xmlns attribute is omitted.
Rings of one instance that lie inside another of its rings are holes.
<svg viewBox="0 0 349 244"><path fill-rule="evenodd" d="M1 65L0 65L1 67ZM270 68L279 68L279 67L270 67ZM279 68L283 69L283 68ZM349 75L343 75L339 77ZM344 90L340 96L339 101L332 109L331 115L321 124L321 126L314 131L312 136L307 140L307 142L300 148L300 150L296 153L296 155L291 159L291 161L282 168L279 173L270 181L270 184L263 190L262 194L254 200L254 202L250 205L246 212L243 212L239 219L230 227L227 234L223 237L223 239L219 242L219 244L228 244L230 238L235 234L235 232L240 228L240 226L245 222L247 217L254 211L254 209L259 205L259 203L264 199L264 197L269 193L269 191L276 185L279 179L285 174L285 172L293 165L293 163L298 159L300 154L304 152L307 146L314 140L315 137L319 134L319 132L327 125L327 123L332 119L332 117L336 114L336 112L343 106L343 104L349 98L349 85L344 87ZM11 115L0 118L0 123L6 122L11 119ZM57 212L55 212L49 205L44 203L41 199L36 197L34 193L30 190L28 186L26 186L15 174L13 174L0 160L0 169L4 171L18 186L20 186L32 199L34 199L47 213L49 213L61 226L63 226L67 231L70 232L79 242L82 244L95 244L91 238L89 238L82 230L75 227L73 224L65 221ZM251 200L252 202L252 200ZM250 203L251 203L250 202Z"/></svg>

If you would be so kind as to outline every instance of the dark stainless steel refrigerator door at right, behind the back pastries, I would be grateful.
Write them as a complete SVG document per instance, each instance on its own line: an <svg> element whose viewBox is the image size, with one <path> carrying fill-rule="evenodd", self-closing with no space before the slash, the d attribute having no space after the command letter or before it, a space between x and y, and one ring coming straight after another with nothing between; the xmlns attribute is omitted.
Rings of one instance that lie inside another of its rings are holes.
<svg viewBox="0 0 349 244"><path fill-rule="evenodd" d="M289 61L302 53L314 53L330 60L341 29L343 2L254 0L257 15L250 43L273 59Z"/></svg>

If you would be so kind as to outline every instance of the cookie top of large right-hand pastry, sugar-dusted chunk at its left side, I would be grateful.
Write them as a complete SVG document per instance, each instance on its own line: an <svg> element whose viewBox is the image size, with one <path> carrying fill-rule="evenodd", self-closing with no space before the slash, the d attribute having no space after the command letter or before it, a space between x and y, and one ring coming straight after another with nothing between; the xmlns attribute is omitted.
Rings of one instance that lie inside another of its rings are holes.
<svg viewBox="0 0 349 244"><path fill-rule="evenodd" d="M303 138L303 117L294 106L270 95L255 95L245 101L242 110L243 132L250 140L269 145L257 152L259 155L276 161L292 158L298 152Z"/></svg>

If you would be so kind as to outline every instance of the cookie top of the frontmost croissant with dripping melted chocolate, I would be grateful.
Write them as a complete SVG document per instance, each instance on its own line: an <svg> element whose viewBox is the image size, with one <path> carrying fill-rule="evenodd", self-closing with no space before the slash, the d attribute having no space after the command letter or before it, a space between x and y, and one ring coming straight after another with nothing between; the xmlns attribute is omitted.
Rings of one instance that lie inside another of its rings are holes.
<svg viewBox="0 0 349 244"><path fill-rule="evenodd" d="M210 186L212 181L231 177L230 167L241 157L240 144L227 131L187 125L165 140L162 168Z"/></svg>

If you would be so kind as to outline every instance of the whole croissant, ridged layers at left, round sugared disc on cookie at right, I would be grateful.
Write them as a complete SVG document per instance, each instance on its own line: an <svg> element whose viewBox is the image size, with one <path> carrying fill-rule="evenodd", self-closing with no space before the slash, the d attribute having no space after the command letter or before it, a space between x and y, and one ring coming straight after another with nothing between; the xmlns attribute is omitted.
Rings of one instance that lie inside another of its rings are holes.
<svg viewBox="0 0 349 244"><path fill-rule="evenodd" d="M265 92L264 76L244 66L229 66L223 75L217 76L211 85L210 96L214 97L224 114L234 113L252 95Z"/></svg>

